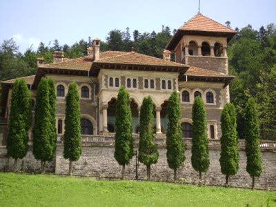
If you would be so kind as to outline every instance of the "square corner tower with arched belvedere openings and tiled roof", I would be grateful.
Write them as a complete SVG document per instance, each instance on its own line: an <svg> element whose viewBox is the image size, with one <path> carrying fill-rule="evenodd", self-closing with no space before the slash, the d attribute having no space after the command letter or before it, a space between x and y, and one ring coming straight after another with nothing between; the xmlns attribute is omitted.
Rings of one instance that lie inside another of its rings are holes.
<svg viewBox="0 0 276 207"><path fill-rule="evenodd" d="M175 61L228 74L227 44L235 30L197 13L184 23L168 43Z"/></svg>

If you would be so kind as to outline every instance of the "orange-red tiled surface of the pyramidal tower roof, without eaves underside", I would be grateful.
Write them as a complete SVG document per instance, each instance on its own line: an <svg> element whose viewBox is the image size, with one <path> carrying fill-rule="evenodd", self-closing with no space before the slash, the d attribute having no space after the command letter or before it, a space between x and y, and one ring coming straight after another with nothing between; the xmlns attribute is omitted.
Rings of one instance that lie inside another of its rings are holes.
<svg viewBox="0 0 276 207"><path fill-rule="evenodd" d="M228 28L213 19L205 17L201 13L197 13L195 17L189 19L179 30L194 30L205 32L231 32L236 33L235 30Z"/></svg>

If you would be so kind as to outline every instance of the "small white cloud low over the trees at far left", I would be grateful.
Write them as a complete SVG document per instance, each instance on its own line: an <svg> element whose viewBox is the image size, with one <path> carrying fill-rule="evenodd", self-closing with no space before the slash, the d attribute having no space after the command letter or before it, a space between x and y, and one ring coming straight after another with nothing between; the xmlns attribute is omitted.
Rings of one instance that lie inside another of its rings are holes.
<svg viewBox="0 0 276 207"><path fill-rule="evenodd" d="M25 52L26 49L30 48L30 46L32 46L32 50L37 50L39 43L41 42L41 39L39 38L25 38L23 37L23 34L14 34L12 38L16 41L17 45L20 46L19 50L21 52Z"/></svg>

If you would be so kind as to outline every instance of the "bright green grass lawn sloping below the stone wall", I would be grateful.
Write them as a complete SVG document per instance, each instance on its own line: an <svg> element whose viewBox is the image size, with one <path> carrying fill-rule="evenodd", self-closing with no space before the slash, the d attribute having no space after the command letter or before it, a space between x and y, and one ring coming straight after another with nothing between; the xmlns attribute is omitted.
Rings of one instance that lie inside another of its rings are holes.
<svg viewBox="0 0 276 207"><path fill-rule="evenodd" d="M0 172L0 206L276 206L276 192Z"/></svg>

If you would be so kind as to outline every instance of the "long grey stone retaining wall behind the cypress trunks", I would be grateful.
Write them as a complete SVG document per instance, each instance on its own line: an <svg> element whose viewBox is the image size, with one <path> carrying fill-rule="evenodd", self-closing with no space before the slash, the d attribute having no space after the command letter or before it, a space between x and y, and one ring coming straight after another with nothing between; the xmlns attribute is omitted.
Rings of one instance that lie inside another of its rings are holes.
<svg viewBox="0 0 276 207"><path fill-rule="evenodd" d="M114 139L112 137L88 137L83 142L82 155L79 161L73 163L74 175L95 176L95 177L112 177L119 178L121 176L121 166L117 164L114 158ZM168 168L166 161L166 146L164 137L157 139L159 146L159 161L152 165L151 175L153 180L170 181L173 179L173 171ZM135 139L135 150L137 150L137 141ZM220 172L219 148L210 146L210 168L208 172L203 174L204 183L208 185L223 185L225 176ZM276 146L275 146L276 148ZM256 188L276 190L276 150L262 150L263 173L262 176L256 178ZM0 170L4 170L7 164L7 158L4 156L6 149L0 148ZM185 152L186 161L184 166L178 170L178 178L190 184L197 184L199 174L190 162L191 152L190 145ZM246 172L246 155L244 150L239 151L239 171L234 177L230 177L231 186L239 186L250 188L251 178ZM28 172L38 172L40 163L32 156L31 149L28 155L23 159L23 170ZM13 160L10 159L10 169ZM21 169L22 161L19 161L18 168ZM47 164L48 172L56 174L68 174L68 160L63 159L63 145L57 145L57 153L55 161ZM146 168L144 164L139 163L138 167L139 179L146 179ZM135 179L135 157L130 161L130 165L126 166L126 178Z"/></svg>

